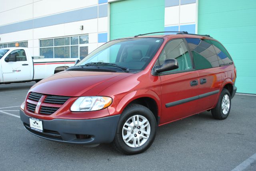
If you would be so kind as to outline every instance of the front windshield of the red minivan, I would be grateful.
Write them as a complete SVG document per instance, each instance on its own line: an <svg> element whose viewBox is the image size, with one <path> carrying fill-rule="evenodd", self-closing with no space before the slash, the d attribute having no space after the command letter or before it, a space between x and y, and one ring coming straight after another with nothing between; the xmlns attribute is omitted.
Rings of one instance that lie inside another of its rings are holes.
<svg viewBox="0 0 256 171"><path fill-rule="evenodd" d="M154 57L162 42L162 38L113 40L94 50L76 66L100 62L115 64L128 68L130 71L143 70Z"/></svg>

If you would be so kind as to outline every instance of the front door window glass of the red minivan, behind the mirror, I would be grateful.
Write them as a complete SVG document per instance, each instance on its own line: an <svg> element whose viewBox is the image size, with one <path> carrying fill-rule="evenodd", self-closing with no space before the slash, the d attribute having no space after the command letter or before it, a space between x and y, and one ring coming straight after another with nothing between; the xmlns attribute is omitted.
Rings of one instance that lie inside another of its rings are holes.
<svg viewBox="0 0 256 171"><path fill-rule="evenodd" d="M179 64L179 68L172 70L171 72L192 69L191 58L182 39L171 40L166 44L158 58L158 61L160 65L162 65L167 59L176 59Z"/></svg>

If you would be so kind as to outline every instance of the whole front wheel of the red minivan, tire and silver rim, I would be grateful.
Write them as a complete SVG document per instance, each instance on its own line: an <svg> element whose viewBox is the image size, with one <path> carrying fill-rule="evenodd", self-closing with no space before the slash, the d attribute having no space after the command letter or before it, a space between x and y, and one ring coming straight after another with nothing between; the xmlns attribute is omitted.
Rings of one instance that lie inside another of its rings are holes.
<svg viewBox="0 0 256 171"><path fill-rule="evenodd" d="M156 137L156 118L143 105L131 104L126 107L118 121L114 145L126 155L146 151Z"/></svg>

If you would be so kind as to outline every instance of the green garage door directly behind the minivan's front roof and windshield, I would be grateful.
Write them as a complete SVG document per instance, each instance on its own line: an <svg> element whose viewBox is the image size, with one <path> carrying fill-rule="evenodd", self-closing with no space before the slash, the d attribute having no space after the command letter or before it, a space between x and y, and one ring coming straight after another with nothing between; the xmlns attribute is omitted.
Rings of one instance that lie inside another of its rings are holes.
<svg viewBox="0 0 256 171"><path fill-rule="evenodd" d="M110 3L110 40L164 31L164 0Z"/></svg>

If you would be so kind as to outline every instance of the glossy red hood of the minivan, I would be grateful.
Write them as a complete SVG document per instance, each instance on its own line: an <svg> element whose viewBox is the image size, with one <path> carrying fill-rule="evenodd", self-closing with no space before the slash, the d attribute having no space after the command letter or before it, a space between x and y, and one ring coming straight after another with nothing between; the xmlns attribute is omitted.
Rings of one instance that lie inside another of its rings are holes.
<svg viewBox="0 0 256 171"><path fill-rule="evenodd" d="M73 97L97 95L130 75L132 73L63 71L41 80L30 91Z"/></svg>

